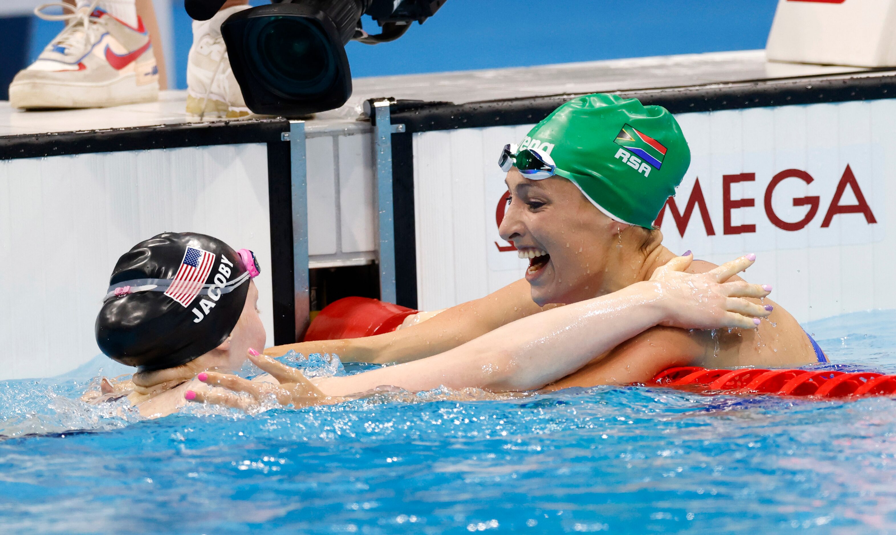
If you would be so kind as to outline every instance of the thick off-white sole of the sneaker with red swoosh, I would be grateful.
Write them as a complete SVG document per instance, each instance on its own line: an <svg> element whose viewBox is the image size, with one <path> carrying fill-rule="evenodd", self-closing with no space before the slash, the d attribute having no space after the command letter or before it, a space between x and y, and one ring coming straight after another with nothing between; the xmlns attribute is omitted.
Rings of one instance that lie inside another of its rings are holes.
<svg viewBox="0 0 896 535"><path fill-rule="evenodd" d="M20 81L9 86L9 103L22 109L109 107L159 100L159 82L137 85L136 75L98 84Z"/></svg>

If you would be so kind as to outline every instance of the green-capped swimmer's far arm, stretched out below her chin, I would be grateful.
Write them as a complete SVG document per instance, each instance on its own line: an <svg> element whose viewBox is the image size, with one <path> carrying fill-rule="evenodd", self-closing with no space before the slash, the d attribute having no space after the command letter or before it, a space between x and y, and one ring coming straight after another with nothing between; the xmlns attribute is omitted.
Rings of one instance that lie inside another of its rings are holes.
<svg viewBox="0 0 896 535"><path fill-rule="evenodd" d="M555 308L554 305L545 307ZM277 357L289 350L308 355L335 353L341 361L409 362L446 352L498 327L542 310L530 297L529 283L521 279L486 297L468 301L435 318L383 335L346 340L323 340L276 345L264 354Z"/></svg>

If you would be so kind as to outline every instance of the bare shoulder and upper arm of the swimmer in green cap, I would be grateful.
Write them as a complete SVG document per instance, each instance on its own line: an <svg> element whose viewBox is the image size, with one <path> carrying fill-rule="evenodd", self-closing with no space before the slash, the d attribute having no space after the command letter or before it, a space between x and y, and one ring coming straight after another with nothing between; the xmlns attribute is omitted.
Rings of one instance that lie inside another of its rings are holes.
<svg viewBox="0 0 896 535"><path fill-rule="evenodd" d="M687 271L704 273L712 268L716 265L711 262L694 260ZM740 277L732 280L740 280ZM653 327L600 355L548 389L628 385L650 380L663 369L673 366L773 368L815 362L812 344L796 318L768 298L762 304L771 304L775 309L756 329L731 329L730 332L725 329L713 335L710 331Z"/></svg>

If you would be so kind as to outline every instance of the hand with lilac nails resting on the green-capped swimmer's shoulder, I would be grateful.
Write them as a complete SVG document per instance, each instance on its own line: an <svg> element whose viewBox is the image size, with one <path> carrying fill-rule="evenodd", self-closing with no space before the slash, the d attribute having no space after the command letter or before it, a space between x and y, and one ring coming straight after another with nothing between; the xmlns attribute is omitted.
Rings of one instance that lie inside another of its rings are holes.
<svg viewBox="0 0 896 535"><path fill-rule="evenodd" d="M693 260L693 254L676 257L650 276L647 284L654 285L656 299L664 310L664 319L659 325L752 329L759 325L759 318L771 314L771 306L766 308L745 299L765 297L771 293L771 286L745 281L726 282L752 266L756 255L742 256L706 273L685 273Z"/></svg>

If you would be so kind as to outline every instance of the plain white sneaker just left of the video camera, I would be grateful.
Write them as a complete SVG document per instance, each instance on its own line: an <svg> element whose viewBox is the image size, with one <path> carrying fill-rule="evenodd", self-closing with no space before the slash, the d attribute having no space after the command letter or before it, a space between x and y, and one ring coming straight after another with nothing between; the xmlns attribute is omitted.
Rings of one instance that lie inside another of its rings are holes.
<svg viewBox="0 0 896 535"><path fill-rule="evenodd" d="M252 113L230 69L227 47L221 37L221 23L249 7L235 5L222 9L208 21L193 21L193 46L186 64L187 115L205 119L245 117Z"/></svg>

